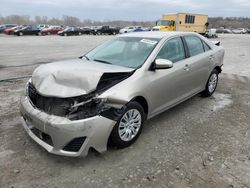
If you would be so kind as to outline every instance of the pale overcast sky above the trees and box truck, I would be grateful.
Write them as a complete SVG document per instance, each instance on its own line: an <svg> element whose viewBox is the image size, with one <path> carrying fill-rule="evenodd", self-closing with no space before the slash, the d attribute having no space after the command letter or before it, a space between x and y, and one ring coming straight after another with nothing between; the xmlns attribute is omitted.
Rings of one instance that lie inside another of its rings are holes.
<svg viewBox="0 0 250 188"><path fill-rule="evenodd" d="M91 20L152 21L163 13L191 12L210 17L250 17L250 0L0 0L0 15Z"/></svg>

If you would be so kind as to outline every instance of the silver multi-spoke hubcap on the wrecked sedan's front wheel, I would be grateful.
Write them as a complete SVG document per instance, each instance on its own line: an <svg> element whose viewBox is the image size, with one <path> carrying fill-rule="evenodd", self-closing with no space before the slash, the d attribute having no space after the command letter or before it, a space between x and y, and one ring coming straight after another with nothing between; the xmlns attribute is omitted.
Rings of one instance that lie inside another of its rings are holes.
<svg viewBox="0 0 250 188"><path fill-rule="evenodd" d="M121 118L118 132L121 140L131 141L139 132L142 117L137 109L128 110Z"/></svg>

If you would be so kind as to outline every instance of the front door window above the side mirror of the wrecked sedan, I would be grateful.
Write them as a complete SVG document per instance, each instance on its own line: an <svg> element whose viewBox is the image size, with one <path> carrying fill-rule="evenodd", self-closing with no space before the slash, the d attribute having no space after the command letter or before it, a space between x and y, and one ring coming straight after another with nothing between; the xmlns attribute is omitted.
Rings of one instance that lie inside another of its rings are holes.
<svg viewBox="0 0 250 188"><path fill-rule="evenodd" d="M185 51L180 37L171 39L164 44L157 59L168 59L173 63L185 59Z"/></svg>

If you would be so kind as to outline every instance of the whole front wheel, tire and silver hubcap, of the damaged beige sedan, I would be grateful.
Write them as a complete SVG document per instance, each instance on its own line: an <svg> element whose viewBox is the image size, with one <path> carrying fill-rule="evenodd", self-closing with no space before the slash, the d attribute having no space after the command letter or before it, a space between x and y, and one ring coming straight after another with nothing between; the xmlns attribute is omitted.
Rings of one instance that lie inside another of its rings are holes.
<svg viewBox="0 0 250 188"><path fill-rule="evenodd" d="M138 102L129 102L111 132L111 143L118 148L134 143L141 133L144 119L142 106Z"/></svg>

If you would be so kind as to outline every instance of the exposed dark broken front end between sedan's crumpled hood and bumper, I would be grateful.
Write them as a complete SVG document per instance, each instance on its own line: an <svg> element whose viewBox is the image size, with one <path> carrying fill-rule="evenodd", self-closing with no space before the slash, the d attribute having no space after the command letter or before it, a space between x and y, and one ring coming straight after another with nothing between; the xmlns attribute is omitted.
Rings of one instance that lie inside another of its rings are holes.
<svg viewBox="0 0 250 188"><path fill-rule="evenodd" d="M128 78L133 73L134 71L126 73L104 73L95 91L68 98L43 96L39 94L35 86L29 82L27 95L35 108L47 114L66 117L70 120L80 120L101 115L117 121L123 112L125 104L120 108L114 107L109 105L109 99L100 99L98 96L110 87Z"/></svg>

